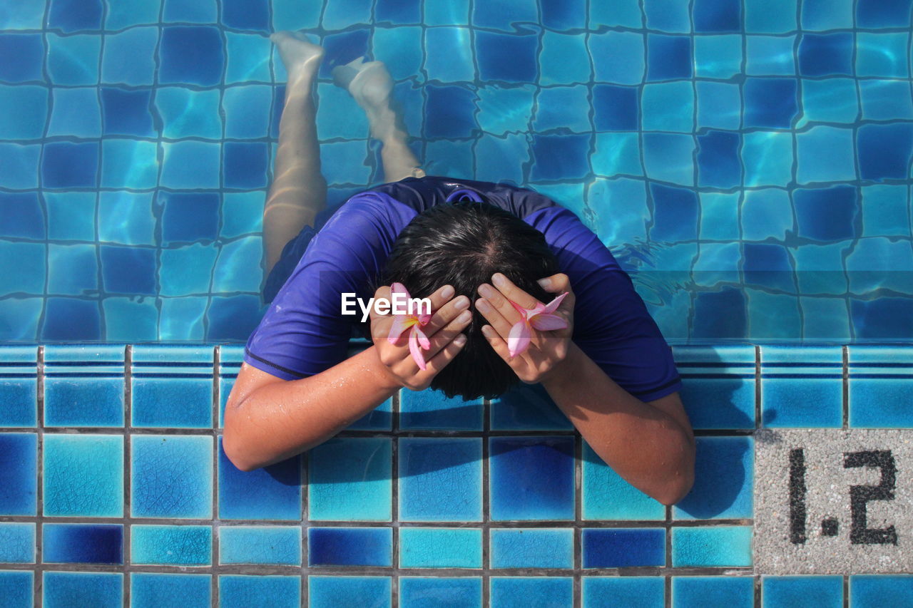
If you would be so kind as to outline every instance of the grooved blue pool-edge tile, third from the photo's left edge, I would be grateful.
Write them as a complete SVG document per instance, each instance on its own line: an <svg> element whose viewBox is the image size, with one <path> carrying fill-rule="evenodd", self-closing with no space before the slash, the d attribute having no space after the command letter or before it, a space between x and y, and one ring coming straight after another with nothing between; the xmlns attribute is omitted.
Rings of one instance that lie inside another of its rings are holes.
<svg viewBox="0 0 913 608"><path fill-rule="evenodd" d="M135 346L133 426L211 428L213 350L195 346Z"/></svg>

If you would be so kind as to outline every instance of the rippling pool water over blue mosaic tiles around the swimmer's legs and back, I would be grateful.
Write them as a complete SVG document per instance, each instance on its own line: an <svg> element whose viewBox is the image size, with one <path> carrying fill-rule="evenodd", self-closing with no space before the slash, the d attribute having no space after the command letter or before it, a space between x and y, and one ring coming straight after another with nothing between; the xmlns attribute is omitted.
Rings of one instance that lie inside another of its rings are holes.
<svg viewBox="0 0 913 608"><path fill-rule="evenodd" d="M0 338L247 338L285 79L267 35L298 28L327 49L331 203L382 179L328 78L366 53L429 173L572 208L666 338L910 338L910 5L5 3Z"/></svg>

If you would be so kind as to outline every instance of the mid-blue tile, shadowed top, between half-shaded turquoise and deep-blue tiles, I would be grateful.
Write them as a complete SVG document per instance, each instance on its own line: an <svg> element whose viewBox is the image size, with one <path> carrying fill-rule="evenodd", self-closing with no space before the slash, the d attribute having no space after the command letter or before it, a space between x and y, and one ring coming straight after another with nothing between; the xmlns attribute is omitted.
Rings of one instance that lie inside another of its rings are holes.
<svg viewBox="0 0 913 608"><path fill-rule="evenodd" d="M482 520L480 440L400 437L398 454L400 520Z"/></svg>

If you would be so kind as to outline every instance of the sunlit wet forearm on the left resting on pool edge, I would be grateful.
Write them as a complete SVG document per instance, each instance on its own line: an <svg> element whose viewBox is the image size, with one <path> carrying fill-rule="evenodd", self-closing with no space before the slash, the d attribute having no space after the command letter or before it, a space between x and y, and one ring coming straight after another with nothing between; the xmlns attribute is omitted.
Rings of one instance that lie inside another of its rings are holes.
<svg viewBox="0 0 913 608"><path fill-rule="evenodd" d="M247 471L280 462L319 446L398 388L373 346L308 378L260 386L226 405L226 455Z"/></svg>

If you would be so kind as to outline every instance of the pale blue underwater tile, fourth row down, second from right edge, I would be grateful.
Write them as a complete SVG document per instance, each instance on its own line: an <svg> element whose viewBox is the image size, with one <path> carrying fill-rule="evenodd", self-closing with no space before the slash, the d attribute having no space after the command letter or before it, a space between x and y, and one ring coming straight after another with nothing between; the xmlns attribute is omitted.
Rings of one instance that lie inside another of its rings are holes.
<svg viewBox="0 0 913 608"><path fill-rule="evenodd" d="M796 134L796 182L855 180L853 130L818 126Z"/></svg>

